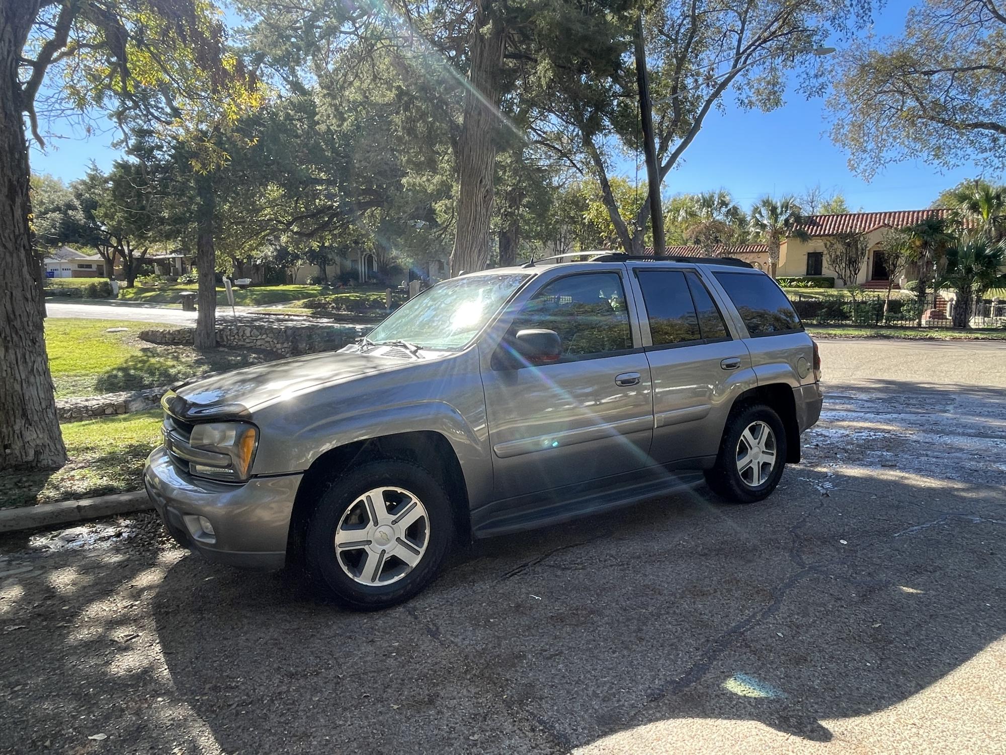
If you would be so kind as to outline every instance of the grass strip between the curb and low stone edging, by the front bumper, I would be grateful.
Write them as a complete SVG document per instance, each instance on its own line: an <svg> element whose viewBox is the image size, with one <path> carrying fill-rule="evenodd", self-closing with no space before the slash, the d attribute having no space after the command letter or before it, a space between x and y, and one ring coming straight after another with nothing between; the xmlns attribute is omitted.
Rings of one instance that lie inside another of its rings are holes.
<svg viewBox="0 0 1006 755"><path fill-rule="evenodd" d="M69 462L55 472L0 474L0 508L143 489L160 426L160 410L62 425Z"/></svg>

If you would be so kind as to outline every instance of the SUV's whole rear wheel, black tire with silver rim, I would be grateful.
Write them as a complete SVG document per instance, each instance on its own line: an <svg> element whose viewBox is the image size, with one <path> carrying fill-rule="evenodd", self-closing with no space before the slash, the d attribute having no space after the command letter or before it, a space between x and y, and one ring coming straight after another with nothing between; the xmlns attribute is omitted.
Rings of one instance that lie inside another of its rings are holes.
<svg viewBox="0 0 1006 755"><path fill-rule="evenodd" d="M709 487L734 503L753 503L772 494L786 466L786 429L775 410L749 405L731 414L716 464L705 472Z"/></svg>

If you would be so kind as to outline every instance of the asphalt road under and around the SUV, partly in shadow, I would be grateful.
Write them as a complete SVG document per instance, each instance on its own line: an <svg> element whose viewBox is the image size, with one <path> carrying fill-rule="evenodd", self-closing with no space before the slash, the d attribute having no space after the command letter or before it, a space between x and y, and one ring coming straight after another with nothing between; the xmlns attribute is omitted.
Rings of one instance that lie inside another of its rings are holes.
<svg viewBox="0 0 1006 755"><path fill-rule="evenodd" d="M768 501L481 542L380 613L147 517L8 537L0 751L1002 752L1006 347L822 351Z"/></svg>

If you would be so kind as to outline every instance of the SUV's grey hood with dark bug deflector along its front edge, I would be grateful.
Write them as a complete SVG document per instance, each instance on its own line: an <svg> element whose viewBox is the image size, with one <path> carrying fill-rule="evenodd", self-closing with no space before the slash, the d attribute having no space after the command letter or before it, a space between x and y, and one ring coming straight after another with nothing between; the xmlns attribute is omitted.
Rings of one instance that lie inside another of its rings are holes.
<svg viewBox="0 0 1006 755"><path fill-rule="evenodd" d="M326 351L182 383L165 395L162 404L183 420L248 418L266 404L299 396L318 386L407 364L397 357Z"/></svg>

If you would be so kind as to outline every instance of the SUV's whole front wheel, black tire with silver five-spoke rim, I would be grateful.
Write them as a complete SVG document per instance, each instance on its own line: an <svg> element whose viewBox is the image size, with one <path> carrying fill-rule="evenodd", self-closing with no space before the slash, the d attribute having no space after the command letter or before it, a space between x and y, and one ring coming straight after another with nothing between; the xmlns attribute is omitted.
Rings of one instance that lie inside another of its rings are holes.
<svg viewBox="0 0 1006 755"><path fill-rule="evenodd" d="M408 600L437 576L454 535L440 482L417 464L379 460L340 477L308 524L313 581L353 608Z"/></svg>

